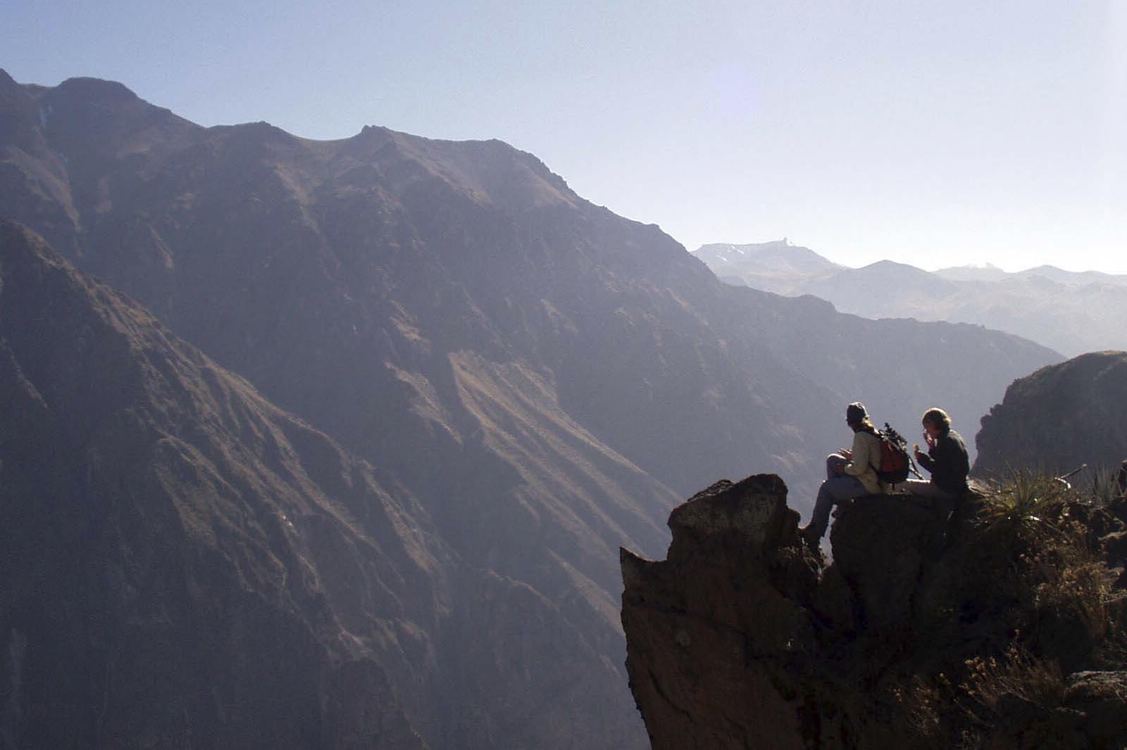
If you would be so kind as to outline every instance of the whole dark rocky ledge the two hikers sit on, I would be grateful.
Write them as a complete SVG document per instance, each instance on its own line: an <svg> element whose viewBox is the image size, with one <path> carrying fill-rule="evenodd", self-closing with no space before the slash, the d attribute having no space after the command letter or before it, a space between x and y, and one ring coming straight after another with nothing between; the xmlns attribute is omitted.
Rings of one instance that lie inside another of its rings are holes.
<svg viewBox="0 0 1127 750"><path fill-rule="evenodd" d="M655 750L1124 747L1121 499L861 498L828 566L798 519L778 476L722 481L666 560L621 551Z"/></svg>

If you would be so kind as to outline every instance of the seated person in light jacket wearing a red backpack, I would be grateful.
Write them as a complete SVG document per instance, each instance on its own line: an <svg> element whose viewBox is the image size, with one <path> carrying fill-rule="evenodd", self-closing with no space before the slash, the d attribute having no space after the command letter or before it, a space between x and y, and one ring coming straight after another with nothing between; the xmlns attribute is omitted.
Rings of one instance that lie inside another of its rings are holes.
<svg viewBox="0 0 1127 750"><path fill-rule="evenodd" d="M825 536L835 505L882 491L873 468L880 465L880 438L863 403L857 401L845 409L845 423L853 430L853 447L826 457L826 481L818 488L810 523L799 529L802 539L815 550Z"/></svg>

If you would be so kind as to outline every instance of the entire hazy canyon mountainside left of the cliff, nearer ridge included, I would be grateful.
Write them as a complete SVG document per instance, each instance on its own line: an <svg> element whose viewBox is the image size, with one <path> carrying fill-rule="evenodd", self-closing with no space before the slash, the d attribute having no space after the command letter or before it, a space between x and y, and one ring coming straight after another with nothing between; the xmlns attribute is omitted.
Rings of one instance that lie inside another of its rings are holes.
<svg viewBox="0 0 1127 750"><path fill-rule="evenodd" d="M497 141L95 79L0 72L0 217L11 747L644 748L620 545L1059 360L722 284Z"/></svg>

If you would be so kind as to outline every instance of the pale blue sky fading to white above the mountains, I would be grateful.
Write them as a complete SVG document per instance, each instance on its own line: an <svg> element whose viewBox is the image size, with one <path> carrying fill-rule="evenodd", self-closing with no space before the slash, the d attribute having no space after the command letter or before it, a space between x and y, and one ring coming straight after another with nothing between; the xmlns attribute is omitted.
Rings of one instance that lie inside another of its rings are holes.
<svg viewBox="0 0 1127 750"><path fill-rule="evenodd" d="M1127 0L5 0L0 68L500 139L690 250L1127 273Z"/></svg>

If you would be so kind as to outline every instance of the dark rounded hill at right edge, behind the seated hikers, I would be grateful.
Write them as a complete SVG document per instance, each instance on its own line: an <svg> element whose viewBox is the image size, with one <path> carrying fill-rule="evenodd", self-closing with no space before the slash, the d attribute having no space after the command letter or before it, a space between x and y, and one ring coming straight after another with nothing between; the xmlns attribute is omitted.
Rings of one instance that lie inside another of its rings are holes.
<svg viewBox="0 0 1127 750"><path fill-rule="evenodd" d="M980 476L1117 467L1127 458L1127 351L1095 351L1018 378L975 440Z"/></svg>

